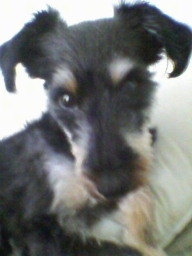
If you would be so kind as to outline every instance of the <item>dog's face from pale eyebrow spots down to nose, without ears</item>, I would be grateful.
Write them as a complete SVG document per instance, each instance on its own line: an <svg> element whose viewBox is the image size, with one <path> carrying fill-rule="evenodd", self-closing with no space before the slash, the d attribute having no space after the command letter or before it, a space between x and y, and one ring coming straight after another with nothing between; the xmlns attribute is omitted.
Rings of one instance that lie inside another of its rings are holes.
<svg viewBox="0 0 192 256"><path fill-rule="evenodd" d="M76 171L105 197L118 197L143 182L149 168L148 111L154 84L145 69L117 57L73 71L59 66L49 87L49 111L71 145Z"/></svg>

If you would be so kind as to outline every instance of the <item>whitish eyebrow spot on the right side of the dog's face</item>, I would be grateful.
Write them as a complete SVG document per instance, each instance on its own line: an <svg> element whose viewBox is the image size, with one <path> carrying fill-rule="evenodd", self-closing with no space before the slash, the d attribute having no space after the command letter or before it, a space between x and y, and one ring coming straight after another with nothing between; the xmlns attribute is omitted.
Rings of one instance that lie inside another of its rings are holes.
<svg viewBox="0 0 192 256"><path fill-rule="evenodd" d="M134 62L128 58L117 58L109 65L109 72L114 84L118 84L134 67Z"/></svg>

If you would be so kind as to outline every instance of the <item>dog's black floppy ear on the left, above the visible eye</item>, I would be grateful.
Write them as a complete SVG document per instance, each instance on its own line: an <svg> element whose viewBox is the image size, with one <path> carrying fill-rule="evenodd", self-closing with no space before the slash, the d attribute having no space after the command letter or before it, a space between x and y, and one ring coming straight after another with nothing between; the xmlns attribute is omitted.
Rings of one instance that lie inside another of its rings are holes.
<svg viewBox="0 0 192 256"><path fill-rule="evenodd" d="M61 58L61 38L67 25L59 13L48 7L35 14L12 40L0 48L0 66L5 86L9 92L15 91L15 66L22 63L32 77L48 79Z"/></svg>

